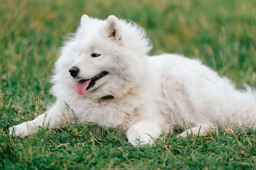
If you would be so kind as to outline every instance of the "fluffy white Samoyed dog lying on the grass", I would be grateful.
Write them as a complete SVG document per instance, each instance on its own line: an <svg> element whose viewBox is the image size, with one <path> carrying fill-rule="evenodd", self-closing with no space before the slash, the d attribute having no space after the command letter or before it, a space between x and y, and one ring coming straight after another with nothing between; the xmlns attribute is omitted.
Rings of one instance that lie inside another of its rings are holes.
<svg viewBox="0 0 256 170"><path fill-rule="evenodd" d="M175 127L179 136L205 135L216 128L256 129L256 93L199 60L176 54L148 56L150 40L134 23L83 15L55 64L51 93L56 102L36 119L9 128L25 137L68 122L95 122L121 129L134 145L153 144ZM67 105L74 110L70 113ZM75 114L75 115L74 115Z"/></svg>

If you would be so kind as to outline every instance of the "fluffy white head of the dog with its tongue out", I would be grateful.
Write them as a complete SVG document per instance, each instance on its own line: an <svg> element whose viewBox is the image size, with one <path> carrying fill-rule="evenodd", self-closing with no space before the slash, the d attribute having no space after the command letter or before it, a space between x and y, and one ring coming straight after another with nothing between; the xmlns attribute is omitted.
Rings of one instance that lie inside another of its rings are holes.
<svg viewBox="0 0 256 170"><path fill-rule="evenodd" d="M145 31L136 24L114 15L107 20L83 15L76 33L61 49L56 73L69 74L66 78L74 82L79 95L96 89L104 95L123 94L144 75L145 56L150 49Z"/></svg>

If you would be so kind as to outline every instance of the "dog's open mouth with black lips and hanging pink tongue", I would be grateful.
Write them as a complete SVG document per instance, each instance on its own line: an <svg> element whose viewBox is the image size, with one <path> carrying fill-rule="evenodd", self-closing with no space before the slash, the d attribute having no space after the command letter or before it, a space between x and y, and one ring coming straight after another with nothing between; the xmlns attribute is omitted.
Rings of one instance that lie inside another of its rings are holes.
<svg viewBox="0 0 256 170"><path fill-rule="evenodd" d="M102 77L104 77L105 75L107 75L108 72L107 71L103 71L97 75L95 75L94 77L92 77L91 79L81 79L77 84L76 84L76 92L79 95L83 95L83 93L92 88L95 84L95 82L99 79L101 79Z"/></svg>

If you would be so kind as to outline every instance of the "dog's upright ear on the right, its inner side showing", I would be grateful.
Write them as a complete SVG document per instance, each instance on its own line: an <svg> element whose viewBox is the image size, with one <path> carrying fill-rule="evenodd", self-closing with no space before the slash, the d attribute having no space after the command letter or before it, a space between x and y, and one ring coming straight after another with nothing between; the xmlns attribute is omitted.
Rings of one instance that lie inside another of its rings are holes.
<svg viewBox="0 0 256 170"><path fill-rule="evenodd" d="M115 40L121 39L122 28L118 18L114 15L110 15L107 19L107 32L108 37L112 37Z"/></svg>

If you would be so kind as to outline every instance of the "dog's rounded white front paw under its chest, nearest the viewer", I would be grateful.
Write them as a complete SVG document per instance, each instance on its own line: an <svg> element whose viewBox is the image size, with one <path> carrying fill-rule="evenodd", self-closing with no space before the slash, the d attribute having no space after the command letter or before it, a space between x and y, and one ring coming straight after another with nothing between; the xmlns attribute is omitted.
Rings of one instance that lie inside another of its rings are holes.
<svg viewBox="0 0 256 170"><path fill-rule="evenodd" d="M130 126L126 131L126 136L133 146L145 146L154 144L161 132L162 126L160 124L154 120L146 119Z"/></svg>

